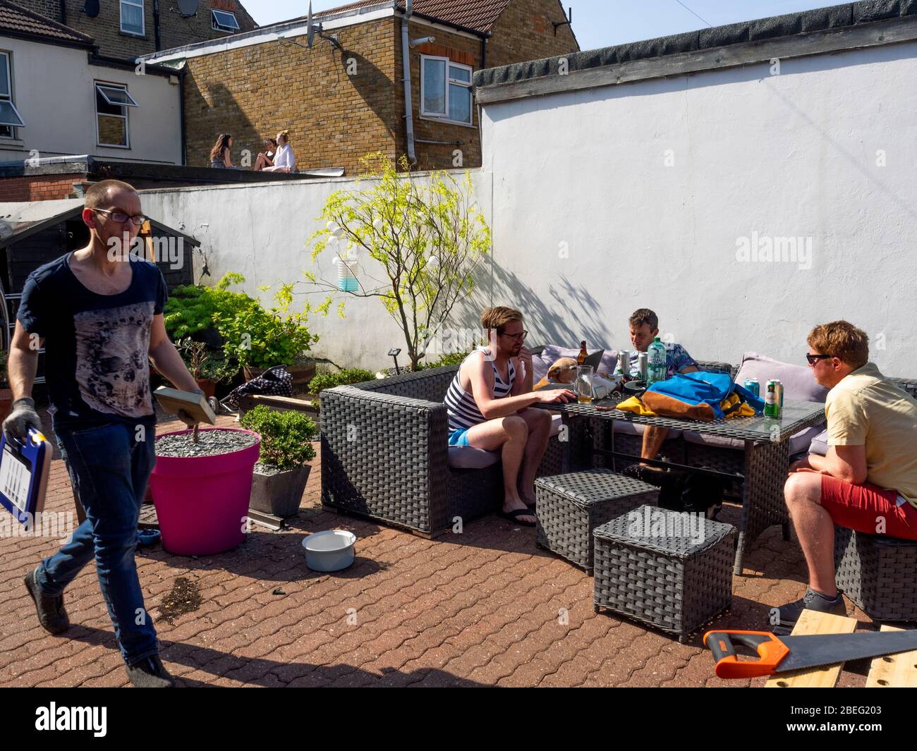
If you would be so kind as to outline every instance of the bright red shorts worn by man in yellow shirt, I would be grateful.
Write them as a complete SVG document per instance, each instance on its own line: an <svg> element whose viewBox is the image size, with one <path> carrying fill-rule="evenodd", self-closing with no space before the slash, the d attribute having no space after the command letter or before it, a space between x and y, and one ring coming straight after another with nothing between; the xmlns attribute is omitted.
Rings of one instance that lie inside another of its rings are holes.
<svg viewBox="0 0 917 751"><path fill-rule="evenodd" d="M917 540L917 509L911 503L898 505L898 491L876 485L852 485L830 475L822 475L822 506L835 525L876 535L878 517L885 519L885 535L902 540Z"/></svg>

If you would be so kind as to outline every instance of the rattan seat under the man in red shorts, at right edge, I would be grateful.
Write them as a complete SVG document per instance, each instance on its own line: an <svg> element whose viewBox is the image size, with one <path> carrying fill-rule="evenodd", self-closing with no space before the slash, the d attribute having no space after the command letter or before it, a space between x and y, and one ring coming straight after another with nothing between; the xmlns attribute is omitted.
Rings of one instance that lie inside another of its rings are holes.
<svg viewBox="0 0 917 751"><path fill-rule="evenodd" d="M917 621L917 542L834 527L837 589L877 621Z"/></svg>

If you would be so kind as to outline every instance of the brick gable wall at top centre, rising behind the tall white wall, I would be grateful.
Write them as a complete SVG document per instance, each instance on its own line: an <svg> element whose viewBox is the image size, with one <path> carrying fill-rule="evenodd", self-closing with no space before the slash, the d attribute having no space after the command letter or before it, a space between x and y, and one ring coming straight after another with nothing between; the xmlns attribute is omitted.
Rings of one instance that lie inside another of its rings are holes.
<svg viewBox="0 0 917 751"><path fill-rule="evenodd" d="M558 0L513 0L493 25L493 36L487 41L487 67L580 50L569 26L558 28L554 36L551 22L564 20Z"/></svg>

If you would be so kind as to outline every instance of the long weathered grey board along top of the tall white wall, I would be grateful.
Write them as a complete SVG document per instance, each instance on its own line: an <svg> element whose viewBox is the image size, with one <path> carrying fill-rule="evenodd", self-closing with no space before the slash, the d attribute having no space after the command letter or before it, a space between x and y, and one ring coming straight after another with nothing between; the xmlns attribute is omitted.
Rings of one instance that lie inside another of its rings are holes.
<svg viewBox="0 0 917 751"><path fill-rule="evenodd" d="M917 39L917 17L901 17L893 21L858 24L855 27L819 29L809 34L757 39L707 50L676 52L656 58L570 71L566 75L552 73L522 81L492 83L476 88L474 95L478 104L489 105L494 102L525 99L529 96L613 86L687 73L718 71L739 65L770 62L775 58L782 61L829 52L861 50L913 39Z"/></svg>

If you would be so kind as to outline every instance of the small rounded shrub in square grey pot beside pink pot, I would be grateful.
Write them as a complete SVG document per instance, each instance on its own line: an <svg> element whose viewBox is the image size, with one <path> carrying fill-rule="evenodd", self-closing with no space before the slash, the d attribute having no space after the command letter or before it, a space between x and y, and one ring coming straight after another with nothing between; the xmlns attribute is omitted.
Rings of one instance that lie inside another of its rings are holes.
<svg viewBox="0 0 917 751"><path fill-rule="evenodd" d="M309 480L312 468L306 462L315 458L312 441L318 428L302 412L282 412L264 404L249 410L239 424L261 437L249 507L275 516L294 516Z"/></svg>

